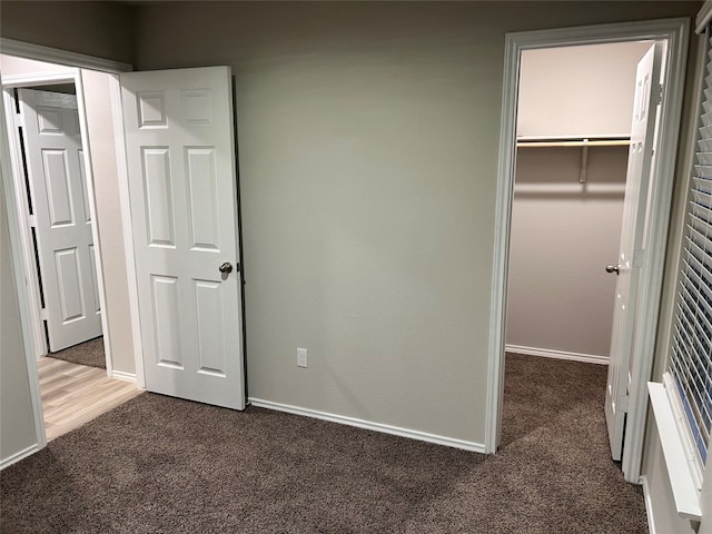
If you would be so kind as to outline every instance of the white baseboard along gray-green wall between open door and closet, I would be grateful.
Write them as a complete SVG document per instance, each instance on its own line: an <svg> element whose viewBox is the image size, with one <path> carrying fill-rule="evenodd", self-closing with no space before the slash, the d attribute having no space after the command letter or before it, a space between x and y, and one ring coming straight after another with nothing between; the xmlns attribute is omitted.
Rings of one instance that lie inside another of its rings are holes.
<svg viewBox="0 0 712 534"><path fill-rule="evenodd" d="M248 402L251 403L253 406L257 406L260 408L274 409L276 412L286 412L288 414L295 415L304 415L305 417L330 421L332 423L355 426L357 428L365 428L367 431L383 432L384 434L393 434L395 436L409 437L412 439L418 439L421 442L435 443L437 445L462 448L463 451L471 451L474 453L485 453L485 446L482 443L467 442L465 439L457 439L454 437L438 436L436 434L428 434L426 432L412 431L409 428L400 428L397 426L384 425L382 423L373 423L370 421L346 417L344 415L328 414L325 412L318 412L316 409L290 406L288 404L273 403L271 400L264 400L261 398L250 397L248 398Z"/></svg>

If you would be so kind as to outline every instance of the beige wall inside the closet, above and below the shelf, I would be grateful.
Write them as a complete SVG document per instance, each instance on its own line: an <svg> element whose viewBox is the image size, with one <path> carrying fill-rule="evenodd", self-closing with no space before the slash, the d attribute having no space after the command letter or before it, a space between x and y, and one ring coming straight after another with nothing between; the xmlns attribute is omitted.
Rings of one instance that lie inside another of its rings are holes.
<svg viewBox="0 0 712 534"><path fill-rule="evenodd" d="M629 136L649 43L525 51L520 137ZM512 212L507 349L607 360L627 147L520 148Z"/></svg>

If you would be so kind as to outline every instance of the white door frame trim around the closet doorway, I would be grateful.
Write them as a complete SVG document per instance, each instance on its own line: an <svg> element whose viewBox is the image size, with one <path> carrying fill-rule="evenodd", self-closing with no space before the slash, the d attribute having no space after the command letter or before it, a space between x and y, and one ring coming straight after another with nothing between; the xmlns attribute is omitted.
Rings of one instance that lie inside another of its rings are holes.
<svg viewBox="0 0 712 534"><path fill-rule="evenodd" d="M682 115L689 33L690 21L679 18L506 34L487 369L485 427L485 452L487 453L496 452L502 429L510 233L516 154L516 107L522 51L606 42L666 41L668 50L663 59L664 90L660 110L660 136L655 146L657 157L653 169L657 179L651 184L647 204L650 228L644 238L644 249L649 254L640 279L631 369L632 388L622 463L625 479L634 483L640 482L647 413L645 382L651 376L655 330L660 312L665 243Z"/></svg>

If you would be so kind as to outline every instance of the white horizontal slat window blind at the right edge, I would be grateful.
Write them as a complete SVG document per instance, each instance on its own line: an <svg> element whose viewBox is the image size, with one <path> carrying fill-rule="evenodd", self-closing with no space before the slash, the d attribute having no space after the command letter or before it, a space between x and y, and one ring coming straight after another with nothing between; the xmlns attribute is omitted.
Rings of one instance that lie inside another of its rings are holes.
<svg viewBox="0 0 712 534"><path fill-rule="evenodd" d="M680 256L670 370L690 427L706 461L712 427L712 42L708 29L706 77L698 122Z"/></svg>

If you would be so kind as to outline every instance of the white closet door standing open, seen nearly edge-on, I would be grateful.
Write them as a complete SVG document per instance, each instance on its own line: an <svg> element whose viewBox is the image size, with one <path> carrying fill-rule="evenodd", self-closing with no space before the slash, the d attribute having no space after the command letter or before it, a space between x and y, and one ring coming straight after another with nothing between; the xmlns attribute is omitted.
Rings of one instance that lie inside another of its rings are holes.
<svg viewBox="0 0 712 534"><path fill-rule="evenodd" d="M613 459L623 453L627 412L629 369L633 352L635 310L641 268L645 263L643 238L650 186L657 107L662 93L660 69L662 43L654 43L637 65L635 99L625 178L625 200L617 258L617 280L611 335L611 355L605 393L605 418Z"/></svg>

